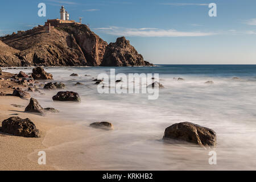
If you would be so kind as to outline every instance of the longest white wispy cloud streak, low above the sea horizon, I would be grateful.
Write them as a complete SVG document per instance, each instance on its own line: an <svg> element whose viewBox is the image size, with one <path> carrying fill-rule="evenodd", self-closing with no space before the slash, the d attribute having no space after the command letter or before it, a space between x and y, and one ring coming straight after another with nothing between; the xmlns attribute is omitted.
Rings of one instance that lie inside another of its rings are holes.
<svg viewBox="0 0 256 182"><path fill-rule="evenodd" d="M142 37L185 37L185 36L210 36L216 35L213 32L201 31L177 31L174 29L163 30L159 28L123 28L123 27L103 27L94 28L105 34L116 36L142 36Z"/></svg>

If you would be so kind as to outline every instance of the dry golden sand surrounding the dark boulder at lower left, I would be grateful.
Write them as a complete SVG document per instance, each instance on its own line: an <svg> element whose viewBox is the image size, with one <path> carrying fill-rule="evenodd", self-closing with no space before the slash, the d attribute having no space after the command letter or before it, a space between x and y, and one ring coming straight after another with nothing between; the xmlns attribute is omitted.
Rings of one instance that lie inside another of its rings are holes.
<svg viewBox="0 0 256 182"><path fill-rule="evenodd" d="M2 96L0 97L0 121L18 114L20 118L30 118L40 130L40 138L24 138L0 133L0 169L1 170L55 170L48 165L39 165L27 158L27 155L35 150L43 149L42 141L47 130L55 127L51 124L49 117L24 113L24 107L14 107L11 104L26 107L27 100L19 97ZM0 124L1 125L1 124Z"/></svg>

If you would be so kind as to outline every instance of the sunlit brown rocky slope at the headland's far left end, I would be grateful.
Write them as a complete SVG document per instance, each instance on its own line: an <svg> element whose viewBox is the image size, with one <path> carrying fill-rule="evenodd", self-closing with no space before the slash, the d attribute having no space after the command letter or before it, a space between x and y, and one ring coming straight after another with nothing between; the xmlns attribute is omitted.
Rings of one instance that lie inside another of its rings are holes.
<svg viewBox="0 0 256 182"><path fill-rule="evenodd" d="M18 52L18 50L7 46L0 40L0 67L21 66L19 58L15 55Z"/></svg>

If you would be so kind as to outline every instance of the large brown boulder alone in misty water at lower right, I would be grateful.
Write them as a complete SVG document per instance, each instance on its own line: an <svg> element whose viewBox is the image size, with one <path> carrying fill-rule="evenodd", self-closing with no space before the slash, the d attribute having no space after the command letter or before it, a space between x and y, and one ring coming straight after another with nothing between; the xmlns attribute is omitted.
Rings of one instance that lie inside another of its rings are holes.
<svg viewBox="0 0 256 182"><path fill-rule="evenodd" d="M167 127L163 139L183 140L200 146L216 145L215 131L190 122L175 123Z"/></svg>

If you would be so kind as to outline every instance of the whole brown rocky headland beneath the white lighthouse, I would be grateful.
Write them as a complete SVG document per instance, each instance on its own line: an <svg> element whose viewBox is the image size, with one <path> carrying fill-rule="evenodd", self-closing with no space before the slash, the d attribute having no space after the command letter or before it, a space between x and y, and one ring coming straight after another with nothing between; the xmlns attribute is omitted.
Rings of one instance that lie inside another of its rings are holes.
<svg viewBox="0 0 256 182"><path fill-rule="evenodd" d="M129 41L102 40L85 24L43 27L0 38L0 67L150 65Z"/></svg>

